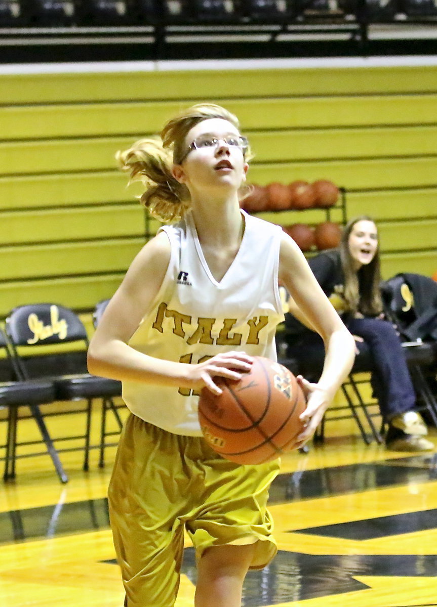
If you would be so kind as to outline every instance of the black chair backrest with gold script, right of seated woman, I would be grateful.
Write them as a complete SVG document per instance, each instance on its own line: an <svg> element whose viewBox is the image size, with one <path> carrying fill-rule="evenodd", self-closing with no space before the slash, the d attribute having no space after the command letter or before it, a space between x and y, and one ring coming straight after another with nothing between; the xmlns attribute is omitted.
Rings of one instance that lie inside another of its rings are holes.
<svg viewBox="0 0 437 607"><path fill-rule="evenodd" d="M401 337L436 339L437 282L421 274L396 274L381 287L385 313Z"/></svg>

